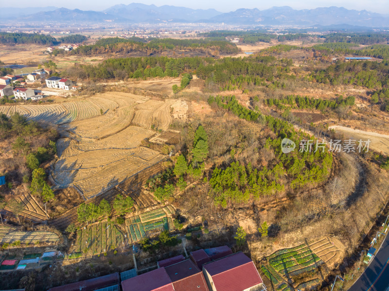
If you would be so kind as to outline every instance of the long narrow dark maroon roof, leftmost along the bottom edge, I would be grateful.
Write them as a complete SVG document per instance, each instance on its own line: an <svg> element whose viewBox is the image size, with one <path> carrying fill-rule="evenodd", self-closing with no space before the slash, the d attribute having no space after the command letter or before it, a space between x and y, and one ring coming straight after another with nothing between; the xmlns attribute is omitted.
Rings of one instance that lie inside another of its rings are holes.
<svg viewBox="0 0 389 291"><path fill-rule="evenodd" d="M119 284L119 273L50 288L49 291L92 291Z"/></svg>

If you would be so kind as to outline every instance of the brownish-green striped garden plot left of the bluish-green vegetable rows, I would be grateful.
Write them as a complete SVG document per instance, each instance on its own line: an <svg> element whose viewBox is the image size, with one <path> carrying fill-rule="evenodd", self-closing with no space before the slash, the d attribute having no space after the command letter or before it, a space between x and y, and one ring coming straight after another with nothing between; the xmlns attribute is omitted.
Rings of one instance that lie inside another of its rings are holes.
<svg viewBox="0 0 389 291"><path fill-rule="evenodd" d="M123 245L124 234L113 222L101 222L81 227L77 231L77 238L73 252L85 252L92 255L114 250Z"/></svg>

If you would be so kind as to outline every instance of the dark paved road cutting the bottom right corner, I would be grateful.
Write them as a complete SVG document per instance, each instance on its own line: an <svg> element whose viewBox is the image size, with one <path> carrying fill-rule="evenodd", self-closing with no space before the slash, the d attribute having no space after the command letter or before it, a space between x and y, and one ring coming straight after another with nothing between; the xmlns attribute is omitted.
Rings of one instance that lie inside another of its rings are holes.
<svg viewBox="0 0 389 291"><path fill-rule="evenodd" d="M349 291L388 291L389 290L389 234L381 249L362 276Z"/></svg>

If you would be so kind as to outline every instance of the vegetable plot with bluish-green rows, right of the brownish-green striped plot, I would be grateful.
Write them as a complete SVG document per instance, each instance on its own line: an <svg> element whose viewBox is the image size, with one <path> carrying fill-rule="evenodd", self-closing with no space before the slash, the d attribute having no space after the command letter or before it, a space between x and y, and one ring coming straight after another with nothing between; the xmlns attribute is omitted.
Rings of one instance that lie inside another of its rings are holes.
<svg viewBox="0 0 389 291"><path fill-rule="evenodd" d="M130 242L138 242L148 235L154 235L163 230L173 230L171 216L174 211L173 206L168 205L126 219L125 226Z"/></svg>

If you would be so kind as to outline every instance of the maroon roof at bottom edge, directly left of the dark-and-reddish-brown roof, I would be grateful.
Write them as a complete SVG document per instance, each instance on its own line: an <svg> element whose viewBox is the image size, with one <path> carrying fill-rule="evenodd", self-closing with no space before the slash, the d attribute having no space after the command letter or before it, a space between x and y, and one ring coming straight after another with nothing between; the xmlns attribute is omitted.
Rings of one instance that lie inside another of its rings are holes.
<svg viewBox="0 0 389 291"><path fill-rule="evenodd" d="M165 268L159 268L122 281L123 291L175 291Z"/></svg>

